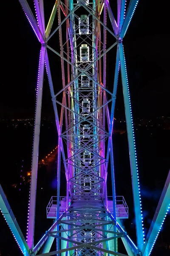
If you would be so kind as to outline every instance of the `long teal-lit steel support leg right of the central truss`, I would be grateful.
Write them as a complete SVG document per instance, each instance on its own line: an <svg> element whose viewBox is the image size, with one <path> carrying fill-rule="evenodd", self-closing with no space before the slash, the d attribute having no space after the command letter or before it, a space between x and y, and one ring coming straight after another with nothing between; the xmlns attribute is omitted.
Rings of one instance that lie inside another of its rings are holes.
<svg viewBox="0 0 170 256"><path fill-rule="evenodd" d="M132 188L133 188L133 202L134 202L134 212L136 220L136 237L137 237L137 246L139 250L142 250L144 239L143 239L143 227L142 227L142 209L141 209L141 200L140 200L140 188L139 188L139 176L138 176L138 167L137 167L137 158L136 158L136 146L135 138L133 131L133 119L131 112L131 103L130 103L130 94L129 86L127 81L126 73L126 64L125 57L123 52L122 42L119 44L119 56L120 56L120 68L122 75L122 87L123 87L123 97L125 104L125 116L126 116L126 126L127 126L127 138L129 145L129 157L130 157L130 170L132 178Z"/></svg>

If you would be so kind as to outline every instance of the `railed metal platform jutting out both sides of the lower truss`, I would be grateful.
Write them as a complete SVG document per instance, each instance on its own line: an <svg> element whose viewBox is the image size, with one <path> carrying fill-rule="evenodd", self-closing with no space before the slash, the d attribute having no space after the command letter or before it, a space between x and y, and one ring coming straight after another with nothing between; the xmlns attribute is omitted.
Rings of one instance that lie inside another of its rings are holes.
<svg viewBox="0 0 170 256"><path fill-rule="evenodd" d="M70 199L69 199L70 202ZM78 202L78 205L81 202ZM96 201L97 204L97 201ZM96 207L95 204L95 207ZM100 203L101 204L101 203ZM78 207L77 205L77 207ZM59 201L59 216L65 212L67 206L67 199L65 196L60 196ZM74 202L74 206L76 207L76 202ZM116 209L117 209L117 218L128 218L128 207L123 196L116 196ZM48 206L46 208L47 218L57 218L57 196L52 196ZM108 210L113 213L113 200L112 196L108 196Z"/></svg>

